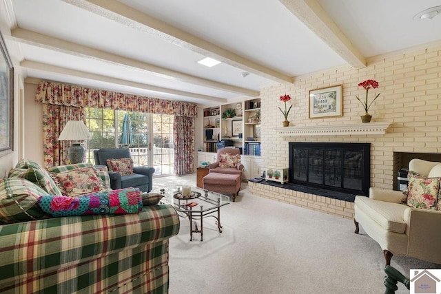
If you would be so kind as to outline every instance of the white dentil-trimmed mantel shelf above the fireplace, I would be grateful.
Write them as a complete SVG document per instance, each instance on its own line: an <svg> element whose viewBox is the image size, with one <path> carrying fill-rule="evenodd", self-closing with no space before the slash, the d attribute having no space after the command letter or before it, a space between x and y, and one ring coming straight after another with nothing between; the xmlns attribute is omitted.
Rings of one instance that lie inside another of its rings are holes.
<svg viewBox="0 0 441 294"><path fill-rule="evenodd" d="M384 135L391 122L276 127L279 136Z"/></svg>

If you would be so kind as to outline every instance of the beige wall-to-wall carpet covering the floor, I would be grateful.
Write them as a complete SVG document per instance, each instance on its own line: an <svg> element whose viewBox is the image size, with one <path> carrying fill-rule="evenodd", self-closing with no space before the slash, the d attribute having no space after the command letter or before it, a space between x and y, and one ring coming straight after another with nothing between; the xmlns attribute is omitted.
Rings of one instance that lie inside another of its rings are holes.
<svg viewBox="0 0 441 294"><path fill-rule="evenodd" d="M155 178L154 187L196 184L196 176ZM170 240L170 293L384 293L380 246L353 233L352 220L242 191L189 241L189 222ZM392 265L440 269L440 264L393 257ZM402 284L396 293L409 293Z"/></svg>

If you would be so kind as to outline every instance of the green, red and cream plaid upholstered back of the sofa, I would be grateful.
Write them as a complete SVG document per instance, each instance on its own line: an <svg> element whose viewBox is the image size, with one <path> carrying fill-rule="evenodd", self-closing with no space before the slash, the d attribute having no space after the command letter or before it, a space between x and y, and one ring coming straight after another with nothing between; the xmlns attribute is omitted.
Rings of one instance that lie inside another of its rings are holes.
<svg viewBox="0 0 441 294"><path fill-rule="evenodd" d="M170 205L0 226L0 293L167 293Z"/></svg>

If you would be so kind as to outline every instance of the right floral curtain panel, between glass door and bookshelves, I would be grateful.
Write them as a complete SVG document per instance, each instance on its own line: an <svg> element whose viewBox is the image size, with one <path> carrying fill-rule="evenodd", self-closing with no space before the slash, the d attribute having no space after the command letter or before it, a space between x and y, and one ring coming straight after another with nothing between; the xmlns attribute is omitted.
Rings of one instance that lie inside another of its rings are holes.
<svg viewBox="0 0 441 294"><path fill-rule="evenodd" d="M174 173L178 176L194 172L194 118L174 118Z"/></svg>

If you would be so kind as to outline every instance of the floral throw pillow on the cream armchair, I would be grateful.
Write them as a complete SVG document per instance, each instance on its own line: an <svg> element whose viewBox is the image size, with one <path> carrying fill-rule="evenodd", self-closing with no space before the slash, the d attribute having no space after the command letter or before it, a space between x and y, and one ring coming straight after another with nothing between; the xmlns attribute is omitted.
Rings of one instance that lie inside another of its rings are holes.
<svg viewBox="0 0 441 294"><path fill-rule="evenodd" d="M419 209L437 209L441 178L425 178L409 174L407 205Z"/></svg>

